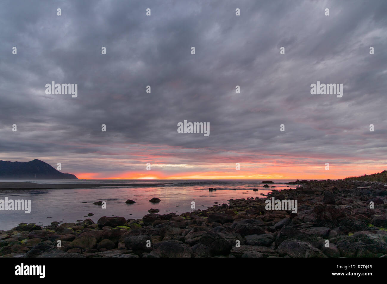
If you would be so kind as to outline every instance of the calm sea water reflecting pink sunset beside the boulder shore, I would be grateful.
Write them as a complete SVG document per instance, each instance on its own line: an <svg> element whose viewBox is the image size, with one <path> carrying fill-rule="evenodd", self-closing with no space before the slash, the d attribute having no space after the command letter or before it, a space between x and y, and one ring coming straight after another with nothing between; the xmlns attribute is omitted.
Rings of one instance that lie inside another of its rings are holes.
<svg viewBox="0 0 387 284"><path fill-rule="evenodd" d="M94 222L102 216L123 216L126 219L139 219L148 214L151 208L159 209L159 214L174 212L181 214L196 209L206 209L214 202L228 203L228 199L263 197L271 190L262 187L262 180L1 180L32 181L39 184L111 184L106 187L89 189L39 189L0 191L0 199L30 199L31 213L24 211L0 211L0 230L9 230L19 223L36 223L48 225L52 221L76 222L91 218ZM276 188L289 189L296 185L286 185L290 180L272 180ZM158 184L144 187L117 187L115 184ZM217 190L209 192L208 188ZM253 191L253 188L259 191ZM236 190L233 190L236 189ZM149 199L158 197L159 203ZM136 201L126 204L127 199ZM93 204L106 201L106 209ZM191 202L195 209L191 209ZM83 203L86 202L86 203ZM94 216L84 217L87 213Z"/></svg>

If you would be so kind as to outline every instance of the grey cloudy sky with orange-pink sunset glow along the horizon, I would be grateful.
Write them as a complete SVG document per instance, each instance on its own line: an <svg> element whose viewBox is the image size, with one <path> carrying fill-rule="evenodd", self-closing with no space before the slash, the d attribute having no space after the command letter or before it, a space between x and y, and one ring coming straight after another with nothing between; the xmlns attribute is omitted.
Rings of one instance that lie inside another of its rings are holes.
<svg viewBox="0 0 387 284"><path fill-rule="evenodd" d="M79 179L382 172L386 15L385 0L1 1L0 160ZM53 81L77 97L46 94ZM311 94L318 81L342 97Z"/></svg>

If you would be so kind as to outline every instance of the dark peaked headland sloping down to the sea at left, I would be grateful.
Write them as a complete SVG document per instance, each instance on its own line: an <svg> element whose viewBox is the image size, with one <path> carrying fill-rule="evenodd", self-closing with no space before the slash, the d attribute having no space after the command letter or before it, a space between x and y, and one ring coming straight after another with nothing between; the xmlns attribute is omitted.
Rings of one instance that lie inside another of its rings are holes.
<svg viewBox="0 0 387 284"><path fill-rule="evenodd" d="M61 173L48 163L35 159L29 162L0 161L0 179L78 179Z"/></svg>

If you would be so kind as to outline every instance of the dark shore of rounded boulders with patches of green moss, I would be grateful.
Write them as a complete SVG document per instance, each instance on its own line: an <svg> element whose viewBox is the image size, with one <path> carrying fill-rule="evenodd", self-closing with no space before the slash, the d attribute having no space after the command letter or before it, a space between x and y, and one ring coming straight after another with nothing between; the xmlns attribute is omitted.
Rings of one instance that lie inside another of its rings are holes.
<svg viewBox="0 0 387 284"><path fill-rule="evenodd" d="M295 189L183 214L102 217L0 231L0 257L386 257L383 183L302 181ZM363 188L359 188L363 187ZM253 191L252 191L253 193ZM266 200L296 200L297 212Z"/></svg>

